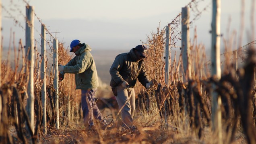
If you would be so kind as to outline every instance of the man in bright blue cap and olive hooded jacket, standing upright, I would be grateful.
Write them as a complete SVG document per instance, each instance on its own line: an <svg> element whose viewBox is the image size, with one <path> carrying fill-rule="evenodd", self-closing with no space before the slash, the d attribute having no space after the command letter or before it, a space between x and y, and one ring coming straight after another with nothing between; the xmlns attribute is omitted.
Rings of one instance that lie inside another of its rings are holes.
<svg viewBox="0 0 256 144"><path fill-rule="evenodd" d="M79 40L74 40L70 44L70 52L75 53L75 57L66 65L59 65L61 72L60 81L63 80L65 73L75 74L76 89L81 89L81 106L85 126L93 128L93 118L98 119L105 125L106 121L95 103L95 92L99 87L97 70L93 56L90 53L91 47Z"/></svg>

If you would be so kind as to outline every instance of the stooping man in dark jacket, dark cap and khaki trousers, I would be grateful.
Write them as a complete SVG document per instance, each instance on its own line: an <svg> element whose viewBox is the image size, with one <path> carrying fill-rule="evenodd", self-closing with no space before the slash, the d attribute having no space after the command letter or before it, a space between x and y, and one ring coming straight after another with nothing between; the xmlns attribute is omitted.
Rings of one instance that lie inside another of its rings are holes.
<svg viewBox="0 0 256 144"><path fill-rule="evenodd" d="M122 53L116 57L109 73L111 75L110 86L116 96L121 110L122 120L126 128L134 128L133 116L135 113L134 87L138 81L147 89L157 84L155 79L149 81L143 61L147 47L138 45L129 53Z"/></svg>

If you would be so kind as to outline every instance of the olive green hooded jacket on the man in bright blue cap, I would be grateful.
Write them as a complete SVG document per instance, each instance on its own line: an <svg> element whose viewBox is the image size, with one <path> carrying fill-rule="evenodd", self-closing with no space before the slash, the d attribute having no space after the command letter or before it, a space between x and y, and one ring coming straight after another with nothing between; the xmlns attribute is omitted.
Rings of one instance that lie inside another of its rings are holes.
<svg viewBox="0 0 256 144"><path fill-rule="evenodd" d="M74 73L76 89L99 87L96 65L91 55L91 47L83 43L76 56L64 66L64 73Z"/></svg>

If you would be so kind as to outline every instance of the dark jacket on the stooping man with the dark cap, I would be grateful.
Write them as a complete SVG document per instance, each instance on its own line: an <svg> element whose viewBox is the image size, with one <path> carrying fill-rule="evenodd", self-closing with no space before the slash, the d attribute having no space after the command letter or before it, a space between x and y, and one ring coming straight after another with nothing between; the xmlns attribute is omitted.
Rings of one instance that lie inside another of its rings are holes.
<svg viewBox="0 0 256 144"><path fill-rule="evenodd" d="M122 53L116 57L109 70L111 75L111 87L121 85L123 81L127 81L129 87L134 87L137 78L138 81L146 87L146 83L149 83L149 79L147 77L145 63L143 59L140 61L136 61L136 59L134 48L131 49L129 53Z"/></svg>

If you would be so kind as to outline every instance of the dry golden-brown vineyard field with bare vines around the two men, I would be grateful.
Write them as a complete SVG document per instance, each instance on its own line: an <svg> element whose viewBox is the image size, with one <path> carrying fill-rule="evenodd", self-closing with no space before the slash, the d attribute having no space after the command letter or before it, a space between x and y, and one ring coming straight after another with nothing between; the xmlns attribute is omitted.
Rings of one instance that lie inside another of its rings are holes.
<svg viewBox="0 0 256 144"><path fill-rule="evenodd" d="M194 7L193 0L187 6ZM189 53L186 57L183 55L181 24L184 22L178 14L167 25L171 28L169 31L159 23L156 30L147 35L147 40L140 43L147 47L144 59L147 76L150 80L156 79L157 84L146 89L137 81L134 128L130 129L122 127L121 110L109 86L109 69L118 54L127 53L133 47L96 50L91 45L99 77L96 103L107 126L95 120L95 128L88 129L84 126L81 90L75 89L74 74L66 73L63 81L56 78L55 66L65 65L74 57L70 48L59 41L55 51L52 37L47 40L42 71L41 47L37 43L33 47L34 71L31 73L32 60L28 58L29 52L25 53L25 44L21 39L17 45L12 42L14 36L10 37L9 47L1 49L0 143L256 144L254 22L245 45L241 44L244 37L234 33L217 36L223 43L217 62L211 59L211 49L217 49L216 43L213 48L198 43L198 35L204 33L197 33L196 26L190 28L194 35L188 37L186 51ZM53 55L58 55L57 64ZM220 77L212 71L218 62ZM28 92L30 74L33 74L32 94ZM44 81L46 106L42 102ZM29 107L31 95L33 106ZM33 111L32 118L29 108Z"/></svg>

